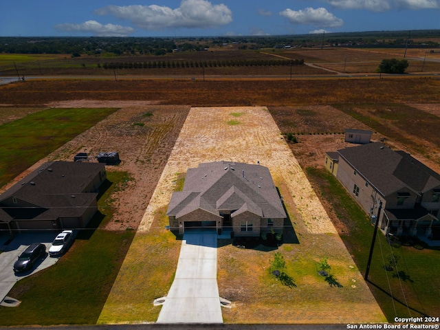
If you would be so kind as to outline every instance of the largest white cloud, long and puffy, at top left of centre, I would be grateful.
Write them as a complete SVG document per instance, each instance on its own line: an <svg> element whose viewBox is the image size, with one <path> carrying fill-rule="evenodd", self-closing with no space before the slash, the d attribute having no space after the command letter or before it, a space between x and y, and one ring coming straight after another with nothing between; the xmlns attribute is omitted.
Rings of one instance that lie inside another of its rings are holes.
<svg viewBox="0 0 440 330"><path fill-rule="evenodd" d="M232 12L226 5L212 5L206 0L182 0L176 9L160 5L107 5L94 13L113 15L131 21L138 28L156 31L166 28L216 28L232 21Z"/></svg>

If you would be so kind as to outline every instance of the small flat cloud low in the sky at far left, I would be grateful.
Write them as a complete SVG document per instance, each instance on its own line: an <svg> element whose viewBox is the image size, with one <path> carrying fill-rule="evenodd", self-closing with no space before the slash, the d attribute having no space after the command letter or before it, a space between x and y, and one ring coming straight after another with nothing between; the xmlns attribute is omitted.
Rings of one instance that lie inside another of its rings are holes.
<svg viewBox="0 0 440 330"><path fill-rule="evenodd" d="M64 32L86 32L94 36L128 36L134 32L133 28L115 24L101 24L97 21L87 21L84 23L63 23L55 25L56 30Z"/></svg>

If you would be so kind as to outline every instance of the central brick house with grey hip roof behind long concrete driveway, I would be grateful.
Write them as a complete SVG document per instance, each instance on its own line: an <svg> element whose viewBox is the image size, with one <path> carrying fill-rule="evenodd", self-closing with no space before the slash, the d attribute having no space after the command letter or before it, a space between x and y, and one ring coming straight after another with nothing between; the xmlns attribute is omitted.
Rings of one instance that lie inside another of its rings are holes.
<svg viewBox="0 0 440 330"><path fill-rule="evenodd" d="M170 229L232 228L234 236L282 232L287 217L269 168L212 162L188 168L182 191L173 192Z"/></svg>

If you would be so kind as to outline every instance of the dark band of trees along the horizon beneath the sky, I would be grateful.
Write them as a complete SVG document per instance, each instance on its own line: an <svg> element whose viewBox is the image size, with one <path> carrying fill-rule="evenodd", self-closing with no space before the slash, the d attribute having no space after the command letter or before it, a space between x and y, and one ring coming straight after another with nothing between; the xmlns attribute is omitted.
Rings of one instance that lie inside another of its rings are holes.
<svg viewBox="0 0 440 330"><path fill-rule="evenodd" d="M0 36L0 53L8 54L88 54L99 55L111 53L116 56L127 54L164 55L176 48L181 51L199 51L209 47L223 47L236 44L245 49L272 48L276 45L292 47L325 45L351 45L359 47L370 45L380 47L394 45L406 47L439 47L435 41L439 30L408 31L376 31L376 32L340 32L329 34L292 34L285 36L212 36L212 37L2 37Z"/></svg>

